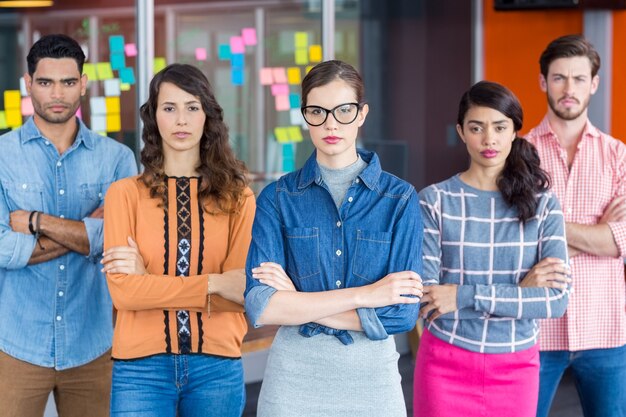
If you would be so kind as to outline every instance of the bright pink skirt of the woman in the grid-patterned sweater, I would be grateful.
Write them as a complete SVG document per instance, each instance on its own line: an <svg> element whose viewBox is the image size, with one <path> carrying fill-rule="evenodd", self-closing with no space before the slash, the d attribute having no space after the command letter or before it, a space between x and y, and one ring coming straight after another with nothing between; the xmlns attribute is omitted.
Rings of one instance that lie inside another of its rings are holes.
<svg viewBox="0 0 626 417"><path fill-rule="evenodd" d="M413 384L414 417L535 417L539 346L477 353L424 330Z"/></svg>

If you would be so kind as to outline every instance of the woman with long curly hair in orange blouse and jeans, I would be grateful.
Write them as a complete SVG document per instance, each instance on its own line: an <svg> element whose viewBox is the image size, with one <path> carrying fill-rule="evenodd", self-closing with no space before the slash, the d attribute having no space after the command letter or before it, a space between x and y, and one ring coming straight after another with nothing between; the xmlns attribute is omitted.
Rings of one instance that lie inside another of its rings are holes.
<svg viewBox="0 0 626 417"><path fill-rule="evenodd" d="M138 177L105 200L117 310L111 416L240 416L245 264L255 201L211 86L172 64L141 106Z"/></svg>

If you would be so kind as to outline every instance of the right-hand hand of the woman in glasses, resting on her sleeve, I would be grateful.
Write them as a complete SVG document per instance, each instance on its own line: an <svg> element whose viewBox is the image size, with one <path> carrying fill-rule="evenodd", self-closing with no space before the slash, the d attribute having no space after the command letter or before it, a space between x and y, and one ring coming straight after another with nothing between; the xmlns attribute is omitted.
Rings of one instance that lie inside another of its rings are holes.
<svg viewBox="0 0 626 417"><path fill-rule="evenodd" d="M360 304L366 308L393 304L416 304L422 296L422 278L417 272L400 271L388 274L373 284L358 287ZM409 297L410 295L414 297Z"/></svg>

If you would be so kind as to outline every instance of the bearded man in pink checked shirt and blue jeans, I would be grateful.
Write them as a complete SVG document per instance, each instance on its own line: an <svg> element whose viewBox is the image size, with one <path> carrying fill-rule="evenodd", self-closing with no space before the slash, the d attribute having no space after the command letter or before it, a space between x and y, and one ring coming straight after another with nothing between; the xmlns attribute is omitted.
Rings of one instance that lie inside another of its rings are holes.
<svg viewBox="0 0 626 417"><path fill-rule="evenodd" d="M587 118L600 57L582 36L552 41L539 60L548 113L527 139L563 208L573 291L563 318L541 323L538 417L571 369L585 416L626 416L626 146ZM549 239L549 236L545 237Z"/></svg>

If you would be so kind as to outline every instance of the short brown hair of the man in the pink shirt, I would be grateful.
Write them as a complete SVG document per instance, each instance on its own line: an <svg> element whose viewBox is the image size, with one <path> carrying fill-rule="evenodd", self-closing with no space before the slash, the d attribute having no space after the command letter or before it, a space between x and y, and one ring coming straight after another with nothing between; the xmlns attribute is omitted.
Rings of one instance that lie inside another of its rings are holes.
<svg viewBox="0 0 626 417"><path fill-rule="evenodd" d="M600 70L600 55L591 42L582 35L565 35L548 44L539 58L539 67L544 77L548 76L550 64L559 58L585 56L591 63L591 76L595 77Z"/></svg>

